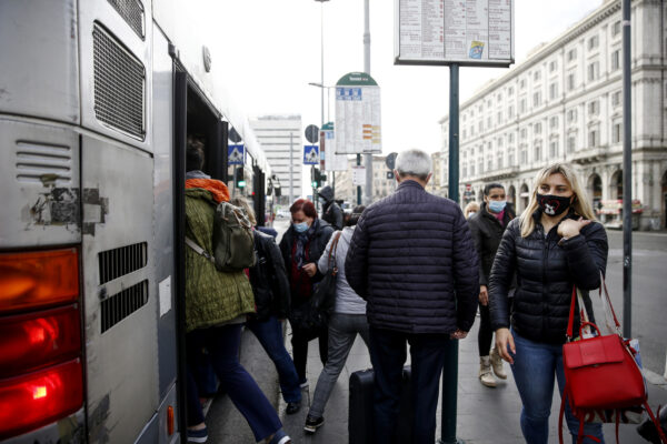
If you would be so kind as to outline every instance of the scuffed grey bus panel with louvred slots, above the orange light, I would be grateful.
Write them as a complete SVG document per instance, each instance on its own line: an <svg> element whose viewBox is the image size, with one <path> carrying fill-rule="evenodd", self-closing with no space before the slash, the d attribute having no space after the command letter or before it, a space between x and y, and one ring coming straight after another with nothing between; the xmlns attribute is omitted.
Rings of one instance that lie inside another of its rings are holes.
<svg viewBox="0 0 667 444"><path fill-rule="evenodd" d="M0 117L0 249L80 242L78 133Z"/></svg>

